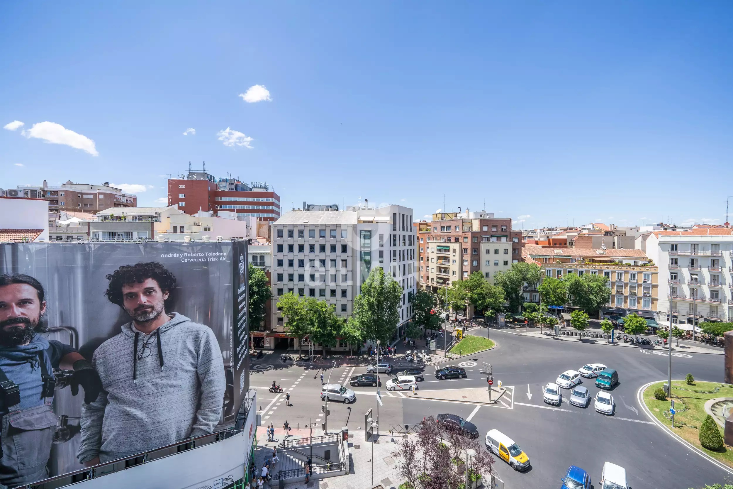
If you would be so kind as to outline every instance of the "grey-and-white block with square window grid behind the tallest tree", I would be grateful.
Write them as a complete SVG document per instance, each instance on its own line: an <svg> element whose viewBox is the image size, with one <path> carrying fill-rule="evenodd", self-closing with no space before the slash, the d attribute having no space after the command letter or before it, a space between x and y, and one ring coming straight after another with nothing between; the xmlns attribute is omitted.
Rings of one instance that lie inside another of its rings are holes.
<svg viewBox="0 0 733 489"><path fill-rule="evenodd" d="M285 331L277 300L285 293L334 304L344 320L373 267L381 267L402 288L398 334L413 316L416 236L413 210L399 205L347 210L292 210L272 224L272 331L264 348L298 348ZM254 334L254 333L253 333ZM257 337L257 334L254 334ZM304 347L307 342L303 343ZM346 350L339 342L337 350Z"/></svg>

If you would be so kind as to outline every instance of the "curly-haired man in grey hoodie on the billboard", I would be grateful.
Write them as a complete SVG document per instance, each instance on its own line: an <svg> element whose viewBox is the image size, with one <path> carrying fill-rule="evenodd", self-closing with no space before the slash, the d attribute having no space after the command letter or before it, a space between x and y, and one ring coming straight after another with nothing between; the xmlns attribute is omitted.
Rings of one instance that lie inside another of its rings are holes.
<svg viewBox="0 0 733 489"><path fill-rule="evenodd" d="M94 353L103 393L81 411L78 459L86 466L212 433L226 389L208 326L166 312L176 279L156 262L107 276L107 298L132 321Z"/></svg>

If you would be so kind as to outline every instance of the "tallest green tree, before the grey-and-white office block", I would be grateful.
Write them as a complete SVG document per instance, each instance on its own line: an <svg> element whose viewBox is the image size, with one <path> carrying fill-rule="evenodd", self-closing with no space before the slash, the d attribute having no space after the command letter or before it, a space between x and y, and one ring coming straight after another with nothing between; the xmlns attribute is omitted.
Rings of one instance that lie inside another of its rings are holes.
<svg viewBox="0 0 733 489"><path fill-rule="evenodd" d="M397 331L401 301L402 287L383 268L372 268L361 284L361 294L354 299L351 315L364 332L364 339L379 339L383 345L387 344Z"/></svg>

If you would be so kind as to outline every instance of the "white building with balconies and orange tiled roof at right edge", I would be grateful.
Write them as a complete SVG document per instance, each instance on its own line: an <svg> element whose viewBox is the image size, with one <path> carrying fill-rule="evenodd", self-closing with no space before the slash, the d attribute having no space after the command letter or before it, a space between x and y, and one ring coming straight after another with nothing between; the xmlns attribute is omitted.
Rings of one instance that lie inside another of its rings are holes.
<svg viewBox="0 0 733 489"><path fill-rule="evenodd" d="M660 315L674 324L733 320L733 229L655 231L647 254L659 266Z"/></svg>

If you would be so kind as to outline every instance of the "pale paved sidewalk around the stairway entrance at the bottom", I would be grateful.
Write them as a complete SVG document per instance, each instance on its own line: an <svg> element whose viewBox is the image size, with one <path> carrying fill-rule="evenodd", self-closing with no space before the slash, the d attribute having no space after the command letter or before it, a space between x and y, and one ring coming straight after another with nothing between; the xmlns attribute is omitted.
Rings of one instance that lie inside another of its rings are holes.
<svg viewBox="0 0 733 489"><path fill-rule="evenodd" d="M313 430L314 436L323 434L323 430ZM276 436L276 438L279 437ZM276 444L273 442L266 443L267 435L264 435L264 440L265 442L260 441L255 450L255 460L259 463L258 467L262 467L265 457L272 453L272 447ZM372 484L372 444L369 441L364 441L363 430L350 430L349 452L351 459L349 474L315 479L307 484L306 482L294 482L286 484L284 487L286 489L369 489L381 484L384 489L397 489L404 480L399 477L397 460L392 457L392 452L399 448L400 440L402 440L402 435L387 435L383 432L382 435L375 436L374 484Z"/></svg>

